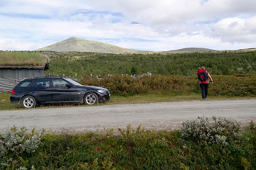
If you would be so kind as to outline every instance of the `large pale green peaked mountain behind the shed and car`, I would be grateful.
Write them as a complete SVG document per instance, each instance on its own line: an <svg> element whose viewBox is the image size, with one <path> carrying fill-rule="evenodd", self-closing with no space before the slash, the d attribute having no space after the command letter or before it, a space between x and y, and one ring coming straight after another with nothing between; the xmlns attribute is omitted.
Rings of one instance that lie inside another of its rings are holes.
<svg viewBox="0 0 256 170"><path fill-rule="evenodd" d="M71 37L55 44L39 48L35 51L56 52L97 52L97 53L146 53L145 51L131 50L99 41L84 40Z"/></svg>

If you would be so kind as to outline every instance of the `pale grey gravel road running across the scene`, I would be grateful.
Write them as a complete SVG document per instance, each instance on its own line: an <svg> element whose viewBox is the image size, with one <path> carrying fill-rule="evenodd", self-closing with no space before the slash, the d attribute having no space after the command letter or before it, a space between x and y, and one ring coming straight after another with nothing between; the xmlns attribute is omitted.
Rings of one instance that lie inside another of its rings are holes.
<svg viewBox="0 0 256 170"><path fill-rule="evenodd" d="M148 104L101 105L88 107L26 109L0 111L0 132L13 125L29 130L56 131L74 133L118 131L132 129L139 125L145 129L179 129L183 121L196 119L205 115L211 117L227 117L248 125L251 120L256 123L256 99L221 100L221 101L189 101L164 102Z"/></svg>

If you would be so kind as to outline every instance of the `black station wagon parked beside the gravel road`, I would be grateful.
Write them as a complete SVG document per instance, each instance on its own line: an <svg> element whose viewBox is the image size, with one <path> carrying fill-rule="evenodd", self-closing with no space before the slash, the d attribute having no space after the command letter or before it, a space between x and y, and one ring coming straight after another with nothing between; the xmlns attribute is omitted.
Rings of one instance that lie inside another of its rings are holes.
<svg viewBox="0 0 256 170"><path fill-rule="evenodd" d="M39 103L84 103L93 105L110 100L108 89L81 84L62 77L29 78L20 81L11 92L10 101L24 108Z"/></svg>

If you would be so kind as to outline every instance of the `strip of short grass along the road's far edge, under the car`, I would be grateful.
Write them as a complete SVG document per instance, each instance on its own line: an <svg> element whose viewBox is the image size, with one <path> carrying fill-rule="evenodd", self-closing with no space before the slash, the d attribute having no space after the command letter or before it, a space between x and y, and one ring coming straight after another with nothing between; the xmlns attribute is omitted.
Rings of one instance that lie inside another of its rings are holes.
<svg viewBox="0 0 256 170"><path fill-rule="evenodd" d="M0 93L0 110L17 110L24 109L21 105L10 103L11 93ZM225 96L225 95L209 95L207 100L239 100L255 98L250 96ZM202 96L194 92L155 92L144 93L137 95L118 95L111 94L110 101L100 103L97 105L115 105L115 104L138 104L138 103L156 103L156 102L182 102L182 101L201 101ZM40 108L58 108L58 107L74 107L74 106L88 106L81 104L51 104L51 105L37 105L36 109Z"/></svg>

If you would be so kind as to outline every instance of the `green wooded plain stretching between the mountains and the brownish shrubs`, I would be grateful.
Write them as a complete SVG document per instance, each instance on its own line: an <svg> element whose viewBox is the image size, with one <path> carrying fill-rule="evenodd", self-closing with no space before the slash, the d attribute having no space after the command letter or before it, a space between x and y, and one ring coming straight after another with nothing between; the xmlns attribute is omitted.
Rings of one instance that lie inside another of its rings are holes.
<svg viewBox="0 0 256 170"><path fill-rule="evenodd" d="M205 66L212 75L256 72L256 52L205 52L181 54L101 54L41 52L50 57L51 75L152 74L193 76ZM133 69L132 69L133 68ZM132 71L133 70L133 71Z"/></svg>

